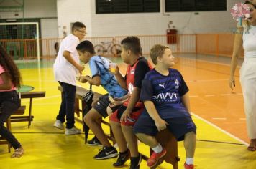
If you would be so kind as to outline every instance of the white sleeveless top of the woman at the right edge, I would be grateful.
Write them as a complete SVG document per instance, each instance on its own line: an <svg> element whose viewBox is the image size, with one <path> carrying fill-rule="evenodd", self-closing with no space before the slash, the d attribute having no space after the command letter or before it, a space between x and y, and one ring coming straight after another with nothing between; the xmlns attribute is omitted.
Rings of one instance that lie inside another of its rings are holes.
<svg viewBox="0 0 256 169"><path fill-rule="evenodd" d="M256 57L256 26L250 25L248 33L242 36L244 47L244 58Z"/></svg>

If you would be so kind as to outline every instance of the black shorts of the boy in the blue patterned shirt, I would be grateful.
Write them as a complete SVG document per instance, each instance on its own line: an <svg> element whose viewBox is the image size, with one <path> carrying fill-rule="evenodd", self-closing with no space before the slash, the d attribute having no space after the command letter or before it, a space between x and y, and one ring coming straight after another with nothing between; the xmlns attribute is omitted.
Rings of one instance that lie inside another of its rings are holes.
<svg viewBox="0 0 256 169"><path fill-rule="evenodd" d="M110 104L109 94L106 94L106 95L99 97L99 101L96 102L96 104L93 106L93 108L95 110L97 110L97 112L99 112L99 114L101 114L102 117L106 118L109 116L108 113L106 112L106 108L109 106L109 104ZM119 106L111 107L112 112L114 112L118 108L119 108Z"/></svg>

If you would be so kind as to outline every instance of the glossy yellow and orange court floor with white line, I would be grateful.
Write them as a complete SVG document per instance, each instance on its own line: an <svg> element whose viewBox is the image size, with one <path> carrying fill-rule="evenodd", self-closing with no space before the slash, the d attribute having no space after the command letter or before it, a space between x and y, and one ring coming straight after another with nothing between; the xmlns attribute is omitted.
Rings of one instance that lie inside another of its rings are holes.
<svg viewBox="0 0 256 169"><path fill-rule="evenodd" d="M244 115L239 84L236 93L225 86L229 66L194 56L178 57L177 61L175 68L180 70L190 88L193 120L198 127L196 169L256 168L256 153L247 151L245 121L240 120ZM34 100L32 114L35 118L29 129L27 122L12 123L12 132L22 143L25 154L22 158L12 159L7 146L0 145L0 168L113 168L115 158L93 160L100 147L85 145L83 134L65 136L63 131L52 127L60 105L60 92L53 78L52 62L42 64L40 69L29 65L19 65L23 83L35 87L34 91L46 91L46 97ZM125 66L122 72L124 69ZM88 72L88 66L85 72ZM88 84L78 85L88 88ZM93 90L104 93L101 87L93 87ZM22 105L28 104L29 100L22 100ZM237 117L228 113L230 110L233 112L234 106L237 107L234 111L239 111L234 112ZM76 126L82 128L78 122ZM104 130L109 129L104 127ZM92 133L89 139L91 137ZM141 153L149 154L149 148L143 143L139 144L139 149ZM182 142L178 143L178 155L179 168L183 168L186 155ZM129 168L128 162L124 168ZM142 161L140 168L147 168L145 161ZM163 163L158 168L172 167Z"/></svg>

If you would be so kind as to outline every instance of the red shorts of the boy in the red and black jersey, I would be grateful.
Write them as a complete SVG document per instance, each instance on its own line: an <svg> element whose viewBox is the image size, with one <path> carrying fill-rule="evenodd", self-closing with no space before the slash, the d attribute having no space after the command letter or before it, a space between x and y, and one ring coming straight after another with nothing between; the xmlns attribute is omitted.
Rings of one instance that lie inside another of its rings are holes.
<svg viewBox="0 0 256 169"><path fill-rule="evenodd" d="M127 107L122 105L118 110L113 112L113 114L109 117L109 120L113 122L120 122L120 118L126 109ZM134 126L144 109L145 107L135 107L130 114L130 118L127 118L127 122L122 121L120 122L121 125Z"/></svg>

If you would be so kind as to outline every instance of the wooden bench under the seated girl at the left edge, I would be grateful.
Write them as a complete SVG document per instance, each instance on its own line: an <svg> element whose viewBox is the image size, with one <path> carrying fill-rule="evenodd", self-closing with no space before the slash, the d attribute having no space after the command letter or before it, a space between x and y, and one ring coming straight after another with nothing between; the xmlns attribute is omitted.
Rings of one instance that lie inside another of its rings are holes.
<svg viewBox="0 0 256 169"><path fill-rule="evenodd" d="M25 109L26 109L26 106L21 106L18 108L18 110L12 113L12 115L24 115ZM6 128L9 131L12 131L12 127L11 127L12 115L6 120ZM1 136L0 136L0 145L8 145L8 152L9 153L11 152L12 145L7 140L5 140L4 137L1 137Z"/></svg>

